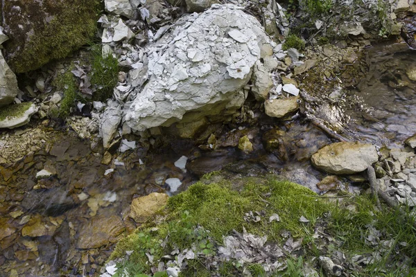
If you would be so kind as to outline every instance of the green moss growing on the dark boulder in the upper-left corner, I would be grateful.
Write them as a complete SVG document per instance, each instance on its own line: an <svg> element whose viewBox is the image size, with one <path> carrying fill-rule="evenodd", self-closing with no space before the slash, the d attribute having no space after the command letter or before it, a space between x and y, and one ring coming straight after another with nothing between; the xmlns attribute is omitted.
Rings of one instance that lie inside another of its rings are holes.
<svg viewBox="0 0 416 277"><path fill-rule="evenodd" d="M9 64L17 73L32 71L87 44L96 32L98 4L98 0L54 1L55 17L37 30Z"/></svg>

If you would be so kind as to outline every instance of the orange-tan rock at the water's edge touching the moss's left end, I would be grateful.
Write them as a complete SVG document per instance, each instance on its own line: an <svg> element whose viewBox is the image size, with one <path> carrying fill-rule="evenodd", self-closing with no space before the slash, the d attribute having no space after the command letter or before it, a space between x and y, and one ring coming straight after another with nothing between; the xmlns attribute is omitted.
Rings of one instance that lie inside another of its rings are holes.
<svg viewBox="0 0 416 277"><path fill-rule="evenodd" d="M144 223L155 215L168 202L166 193L150 193L135 198L130 206L130 217L137 223Z"/></svg>

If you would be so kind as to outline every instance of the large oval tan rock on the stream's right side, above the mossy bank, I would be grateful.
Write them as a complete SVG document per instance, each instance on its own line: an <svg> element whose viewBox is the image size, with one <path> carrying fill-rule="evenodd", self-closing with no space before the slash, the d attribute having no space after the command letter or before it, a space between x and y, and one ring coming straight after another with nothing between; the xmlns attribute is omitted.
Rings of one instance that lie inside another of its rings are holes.
<svg viewBox="0 0 416 277"><path fill-rule="evenodd" d="M362 172L378 159L374 145L348 142L327 145L311 157L313 166L336 175Z"/></svg>

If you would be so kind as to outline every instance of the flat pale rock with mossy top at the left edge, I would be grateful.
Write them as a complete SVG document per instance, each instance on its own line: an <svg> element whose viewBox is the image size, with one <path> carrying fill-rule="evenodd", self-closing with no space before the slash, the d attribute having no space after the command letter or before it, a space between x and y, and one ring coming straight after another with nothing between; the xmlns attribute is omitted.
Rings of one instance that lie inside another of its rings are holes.
<svg viewBox="0 0 416 277"><path fill-rule="evenodd" d="M37 107L31 102L10 105L0 110L0 129L13 129L29 123Z"/></svg>

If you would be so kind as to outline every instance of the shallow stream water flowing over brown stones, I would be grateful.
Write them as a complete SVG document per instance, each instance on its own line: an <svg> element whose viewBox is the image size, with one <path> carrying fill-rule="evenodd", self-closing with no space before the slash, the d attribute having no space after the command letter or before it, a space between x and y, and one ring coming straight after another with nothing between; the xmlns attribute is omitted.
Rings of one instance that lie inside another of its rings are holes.
<svg viewBox="0 0 416 277"><path fill-rule="evenodd" d="M355 89L344 90L329 111L343 118L345 136L401 145L416 133L416 82L411 75L416 55L393 44L368 49L365 59L366 78ZM186 140L158 150L141 144L121 154L117 166L101 164L99 151L92 152L87 141L68 132L50 148L0 166L0 275L98 275L117 237L136 227L128 217L132 199L168 190L166 178L180 179L184 190L220 168L241 175L271 172L318 192L316 184L325 174L309 158L333 140L302 118L279 122L259 116L257 121L254 127L218 130L222 147L217 150L202 150ZM253 143L250 154L236 148L244 134ZM277 139L279 147L266 149L267 138ZM189 158L187 172L174 165L182 155ZM105 175L110 167L114 171ZM56 175L37 180L43 168Z"/></svg>

